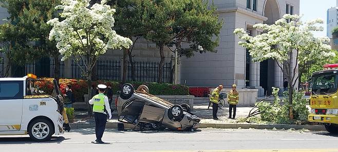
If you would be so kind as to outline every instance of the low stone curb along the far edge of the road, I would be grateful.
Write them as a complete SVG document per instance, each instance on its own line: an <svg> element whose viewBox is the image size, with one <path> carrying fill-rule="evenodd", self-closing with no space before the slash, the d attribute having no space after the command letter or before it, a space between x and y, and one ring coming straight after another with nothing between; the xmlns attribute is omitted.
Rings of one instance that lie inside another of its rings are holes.
<svg viewBox="0 0 338 152"><path fill-rule="evenodd" d="M120 122L107 123L106 128L118 128ZM95 123L70 123L71 129L94 128ZM133 128L132 124L124 124L125 128ZM308 129L310 131L326 131L324 125L286 125L286 124L220 124L220 123L200 123L199 128L242 128L242 129Z"/></svg>

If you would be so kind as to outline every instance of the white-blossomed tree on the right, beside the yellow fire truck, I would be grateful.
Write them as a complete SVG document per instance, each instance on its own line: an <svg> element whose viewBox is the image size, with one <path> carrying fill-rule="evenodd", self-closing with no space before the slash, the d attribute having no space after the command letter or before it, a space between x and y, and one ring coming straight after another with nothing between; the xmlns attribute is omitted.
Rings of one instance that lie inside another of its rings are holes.
<svg viewBox="0 0 338 152"><path fill-rule="evenodd" d="M311 31L323 30L316 24L323 24L322 20L314 20L305 24L298 15L285 14L273 25L256 24L254 28L264 30L265 33L255 37L250 36L244 29L235 29L234 33L244 40L240 46L249 49L253 61L261 62L267 59L276 61L280 70L289 82L289 116L293 120L292 94L299 78L296 69L314 60L322 60L334 56L328 37L313 37ZM290 22L288 22L288 20ZM292 62L292 59L295 62Z"/></svg>

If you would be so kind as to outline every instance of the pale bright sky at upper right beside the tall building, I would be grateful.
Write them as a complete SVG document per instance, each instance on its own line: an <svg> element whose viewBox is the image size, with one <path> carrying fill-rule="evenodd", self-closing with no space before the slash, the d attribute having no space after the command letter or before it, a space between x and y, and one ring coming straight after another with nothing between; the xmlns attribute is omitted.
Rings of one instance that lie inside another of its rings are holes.
<svg viewBox="0 0 338 152"><path fill-rule="evenodd" d="M299 14L302 15L303 21L322 18L324 31L313 32L314 36L326 36L326 11L336 6L336 0L301 0Z"/></svg>

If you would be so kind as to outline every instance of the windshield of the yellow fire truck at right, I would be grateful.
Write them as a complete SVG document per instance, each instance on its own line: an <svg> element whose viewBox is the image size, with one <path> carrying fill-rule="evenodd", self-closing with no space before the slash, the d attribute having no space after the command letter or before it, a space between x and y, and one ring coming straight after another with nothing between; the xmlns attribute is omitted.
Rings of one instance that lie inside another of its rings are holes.
<svg viewBox="0 0 338 152"><path fill-rule="evenodd" d="M337 74L320 74L312 77L312 91L316 94L330 94L337 91Z"/></svg>

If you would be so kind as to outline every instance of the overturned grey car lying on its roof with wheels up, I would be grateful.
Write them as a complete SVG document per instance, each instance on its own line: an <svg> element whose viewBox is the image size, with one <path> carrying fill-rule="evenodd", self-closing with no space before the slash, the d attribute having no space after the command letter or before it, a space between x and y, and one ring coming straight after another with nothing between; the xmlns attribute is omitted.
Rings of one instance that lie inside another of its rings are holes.
<svg viewBox="0 0 338 152"><path fill-rule="evenodd" d="M141 130L168 128L171 130L196 129L200 119L190 112L187 104L175 105L149 94L141 85L124 84L116 101L119 121L135 125Z"/></svg>

